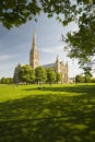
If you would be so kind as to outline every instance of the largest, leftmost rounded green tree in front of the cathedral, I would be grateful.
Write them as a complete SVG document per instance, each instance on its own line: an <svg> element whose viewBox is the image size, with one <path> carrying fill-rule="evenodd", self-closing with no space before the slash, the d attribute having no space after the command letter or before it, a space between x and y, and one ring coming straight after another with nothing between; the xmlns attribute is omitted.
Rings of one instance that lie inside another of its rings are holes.
<svg viewBox="0 0 95 142"><path fill-rule="evenodd" d="M35 80L35 71L34 69L26 64L20 68L19 70L19 79L21 82L33 83Z"/></svg>

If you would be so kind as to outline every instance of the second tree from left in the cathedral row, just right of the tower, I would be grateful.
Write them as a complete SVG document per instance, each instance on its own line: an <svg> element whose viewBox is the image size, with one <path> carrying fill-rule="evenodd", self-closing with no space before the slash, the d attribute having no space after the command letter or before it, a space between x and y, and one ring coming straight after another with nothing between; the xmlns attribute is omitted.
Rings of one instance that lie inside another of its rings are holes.
<svg viewBox="0 0 95 142"><path fill-rule="evenodd" d="M37 67L35 69L35 75L36 75L36 82L38 84L41 84L47 79L46 69L44 67Z"/></svg>

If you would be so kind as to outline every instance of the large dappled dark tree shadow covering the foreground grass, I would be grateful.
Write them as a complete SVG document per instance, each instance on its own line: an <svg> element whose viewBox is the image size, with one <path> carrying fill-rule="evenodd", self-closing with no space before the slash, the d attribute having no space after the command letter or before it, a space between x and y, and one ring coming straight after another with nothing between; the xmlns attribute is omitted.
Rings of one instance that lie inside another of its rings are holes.
<svg viewBox="0 0 95 142"><path fill-rule="evenodd" d="M29 95L0 103L0 142L94 142L94 100L87 95Z"/></svg>

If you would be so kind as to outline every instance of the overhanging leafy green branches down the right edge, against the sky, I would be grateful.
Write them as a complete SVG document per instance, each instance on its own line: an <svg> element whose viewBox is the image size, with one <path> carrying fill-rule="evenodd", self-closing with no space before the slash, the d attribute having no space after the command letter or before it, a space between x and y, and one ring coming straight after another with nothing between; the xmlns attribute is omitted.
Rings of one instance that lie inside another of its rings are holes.
<svg viewBox="0 0 95 142"><path fill-rule="evenodd" d="M78 19L79 29L69 32L67 37L62 36L63 42L67 43L64 49L69 51L68 56L79 59L81 67L90 66L95 56L95 4L93 3L81 8L82 12Z"/></svg>

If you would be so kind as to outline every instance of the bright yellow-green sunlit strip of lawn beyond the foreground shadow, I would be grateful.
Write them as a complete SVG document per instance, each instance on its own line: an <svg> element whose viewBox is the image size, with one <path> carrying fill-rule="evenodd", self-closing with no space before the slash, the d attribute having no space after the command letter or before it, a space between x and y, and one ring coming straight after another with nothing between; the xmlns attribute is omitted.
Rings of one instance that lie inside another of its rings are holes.
<svg viewBox="0 0 95 142"><path fill-rule="evenodd" d="M70 90L70 92L68 88ZM73 92L73 91L71 92L71 90L74 90L74 91L76 90L76 92ZM79 90L80 90L80 84L79 85L63 84L63 85L52 85L52 86L43 85L41 90L38 90L38 85L19 85L17 87L15 85L0 85L0 102L22 98L28 95L47 95L47 94L48 95L49 94L55 94L55 95L64 94L66 96L67 95L69 96L83 95L83 92L78 92Z"/></svg>

